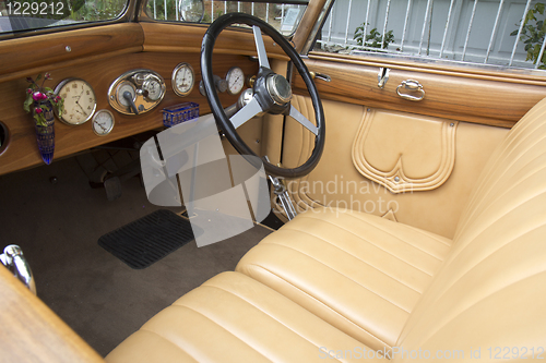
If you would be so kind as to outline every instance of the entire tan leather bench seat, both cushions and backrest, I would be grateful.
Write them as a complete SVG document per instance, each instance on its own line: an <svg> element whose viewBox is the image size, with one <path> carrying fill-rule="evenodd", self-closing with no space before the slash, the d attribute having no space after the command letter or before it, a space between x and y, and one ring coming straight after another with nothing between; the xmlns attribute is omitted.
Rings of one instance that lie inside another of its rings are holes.
<svg viewBox="0 0 546 363"><path fill-rule="evenodd" d="M494 153L451 247L407 226L323 211L287 223L238 270L253 278L212 279L107 361L361 361L383 340L394 362L545 359L546 100Z"/></svg>

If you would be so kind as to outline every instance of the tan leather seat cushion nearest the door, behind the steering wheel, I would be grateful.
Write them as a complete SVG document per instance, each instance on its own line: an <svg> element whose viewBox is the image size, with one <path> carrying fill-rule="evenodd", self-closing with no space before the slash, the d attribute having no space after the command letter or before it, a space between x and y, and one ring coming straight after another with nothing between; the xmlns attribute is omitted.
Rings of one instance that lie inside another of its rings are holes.
<svg viewBox="0 0 546 363"><path fill-rule="evenodd" d="M237 271L376 350L392 348L451 240L372 215L298 215L250 250Z"/></svg>

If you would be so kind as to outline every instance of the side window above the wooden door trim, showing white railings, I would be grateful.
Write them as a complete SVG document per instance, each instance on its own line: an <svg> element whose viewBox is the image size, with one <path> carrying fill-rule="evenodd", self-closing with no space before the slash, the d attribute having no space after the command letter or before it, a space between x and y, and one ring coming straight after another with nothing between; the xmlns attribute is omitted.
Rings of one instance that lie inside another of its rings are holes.
<svg viewBox="0 0 546 363"><path fill-rule="evenodd" d="M545 69L545 3L336 0L313 50Z"/></svg>

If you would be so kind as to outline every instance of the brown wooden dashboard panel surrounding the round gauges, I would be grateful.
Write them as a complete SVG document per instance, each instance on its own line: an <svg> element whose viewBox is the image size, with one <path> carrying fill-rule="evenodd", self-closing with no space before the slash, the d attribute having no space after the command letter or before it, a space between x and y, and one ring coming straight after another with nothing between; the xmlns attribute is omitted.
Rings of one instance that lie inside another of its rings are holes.
<svg viewBox="0 0 546 363"><path fill-rule="evenodd" d="M127 24L112 25L111 27L108 26L108 28L115 31L115 34L126 34L126 25ZM10 60L9 62L2 64L2 71L7 73L2 73L4 78L1 78L2 75L0 75L0 80L3 81L0 87L0 97L2 97L2 99L4 100L0 106L0 121L5 124L11 136L5 152L0 156L0 174L41 164L41 159L36 146L32 116L25 113L22 107L25 97L25 89L27 87L26 77L36 75L34 73L31 73L33 70L36 72L50 72L52 80L48 81L47 83L47 85L49 85L50 87L55 87L56 84L68 77L79 77L90 82L96 94L97 110L110 110L115 114L116 119L116 124L112 132L107 136L102 137L93 133L91 122L86 122L76 126L56 122L55 158L61 158L100 144L112 142L115 140L162 128L162 109L164 107L174 106L176 104L185 101L193 101L200 105L201 114L210 112L206 98L199 93L199 82L201 81L201 74L200 55L199 51L195 50L197 47L192 46L185 48L186 51L183 52L181 51L181 49L178 49L176 47L174 48L176 51L171 49L168 52L134 52L134 47L130 46L129 48L121 50L121 53L117 53L118 50L116 49L118 47L118 43L134 39L132 40L133 44L138 44L138 41L143 40L142 32L140 32L139 37L138 29L140 28L140 26L136 25L135 28L133 25L127 27L127 29L129 29L129 33L127 34L127 36L120 36L120 40L117 40L118 36L100 35L104 31L97 32L95 29L74 31L75 33L91 33L88 37L83 37L82 43L78 45L75 45L74 43L70 43L70 37L68 39L64 39L60 46L54 45L59 39L55 41L51 40L50 49L54 50L59 50L60 48L58 47L61 47L63 49L64 44L72 44L72 48L74 49L72 56L75 56L73 60L66 60L63 57L67 56L61 55L60 58L56 58L56 60L60 61L58 63L48 63L47 61L41 61L40 63L39 59L31 57L31 55L27 53L28 60L26 61L26 63L21 62L23 65L17 64L16 60L19 58L15 60ZM121 27L123 28L123 32L120 32ZM175 26L175 28L180 27ZM199 40L201 40L202 34L199 35L199 33L202 33L203 28L195 28L197 31L199 31L198 35L195 35L195 39L193 39L192 43L186 43L186 45L198 45L197 39L199 38ZM99 35L97 35L97 33ZM237 33L240 34L240 32ZM84 50L87 49L87 43L93 43L97 39L103 38L107 40L105 40L104 44L100 44L100 41L98 41L98 44L92 48L91 53L97 53L96 58L93 56L82 56L82 52L84 55L88 55L87 50ZM13 39L9 41L25 44L26 39ZM108 45L111 45L111 47L108 48ZM104 52L99 51L100 47L105 48ZM140 46L139 49L141 48L142 46ZM108 49L115 50L109 53ZM25 53L25 51L26 50L23 47L23 53ZM106 55L108 55L108 57L106 57ZM187 97L176 96L173 92L170 81L173 69L182 61L190 63L195 74L195 85L191 94ZM38 64L40 65L37 66ZM21 69L21 66L34 65L36 65L37 68L32 69L31 71L17 71ZM233 49L229 51L229 53L222 53L217 57L214 57L213 59L213 70L215 74L218 74L221 76L224 76L229 68L235 65L240 66L247 75L256 74L256 72L258 71L258 63L256 61L251 60L249 57L236 55L236 51L234 51ZM158 107L156 107L152 111L140 116L124 116L115 111L109 106L107 93L110 84L119 75L133 69L151 69L155 72L158 72L165 80L167 92L165 98L161 101ZM16 78L14 78L13 73L10 73L12 71L14 71L14 74L17 75ZM221 100L223 105L227 107L237 101L237 96L230 96L227 93L224 93L221 94ZM247 129L249 128L247 126ZM253 134L260 135L261 128L258 129L258 131L252 131L250 133L252 134L253 141L256 142L259 136L257 137Z"/></svg>

